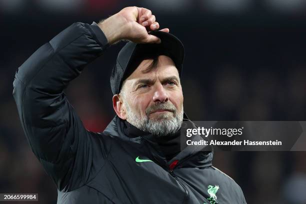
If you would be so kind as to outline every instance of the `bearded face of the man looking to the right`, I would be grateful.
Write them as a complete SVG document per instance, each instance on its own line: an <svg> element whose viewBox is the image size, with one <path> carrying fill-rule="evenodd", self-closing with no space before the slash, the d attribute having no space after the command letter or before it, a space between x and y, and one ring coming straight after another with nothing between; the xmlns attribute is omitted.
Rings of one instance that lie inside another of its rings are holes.
<svg viewBox="0 0 306 204"><path fill-rule="evenodd" d="M157 136L176 132L183 117L183 95L172 59L158 57L156 68L145 71L153 59L143 60L125 79L120 95L126 120Z"/></svg>

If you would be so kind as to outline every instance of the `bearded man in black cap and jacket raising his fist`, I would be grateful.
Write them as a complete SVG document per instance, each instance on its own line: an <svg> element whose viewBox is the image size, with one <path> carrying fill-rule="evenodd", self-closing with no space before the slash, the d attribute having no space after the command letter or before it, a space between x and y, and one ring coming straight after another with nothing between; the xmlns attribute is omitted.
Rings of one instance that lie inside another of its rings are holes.
<svg viewBox="0 0 306 204"><path fill-rule="evenodd" d="M21 124L58 188L57 203L245 203L240 187L211 165L212 151L180 148L183 46L158 28L150 10L126 7L98 24L72 24L18 68ZM116 116L91 132L63 89L120 39L131 42L110 77Z"/></svg>

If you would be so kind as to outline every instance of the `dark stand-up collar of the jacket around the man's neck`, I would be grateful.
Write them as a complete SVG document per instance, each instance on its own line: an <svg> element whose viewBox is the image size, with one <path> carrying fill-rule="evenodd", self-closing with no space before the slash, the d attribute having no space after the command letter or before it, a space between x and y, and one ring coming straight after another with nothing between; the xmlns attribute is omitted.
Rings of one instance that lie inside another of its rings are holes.
<svg viewBox="0 0 306 204"><path fill-rule="evenodd" d="M196 125L187 118L185 113L184 113L184 123L187 124L188 126L196 128ZM171 160L167 162L165 158L160 153L158 153L158 140L154 135L143 132L141 136L129 137L125 135L123 131L123 124L124 124L123 120L121 120L116 115L106 126L103 133L119 137L120 139L125 141L137 142L139 144L146 145L147 151L149 151L148 153L151 154L151 157L159 161L159 163L163 165L168 166L175 160L178 160L176 167L187 167L187 166L207 167L211 165L213 157L213 149L211 146L186 145L176 156L174 156ZM194 135L191 140L199 141L201 139L202 139L201 136ZM181 139L181 141L184 140Z"/></svg>

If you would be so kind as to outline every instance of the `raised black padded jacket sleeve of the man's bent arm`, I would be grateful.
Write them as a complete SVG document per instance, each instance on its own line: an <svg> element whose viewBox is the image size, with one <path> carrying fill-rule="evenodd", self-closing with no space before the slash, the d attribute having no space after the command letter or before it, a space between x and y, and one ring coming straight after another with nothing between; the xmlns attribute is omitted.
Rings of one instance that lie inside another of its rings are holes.
<svg viewBox="0 0 306 204"><path fill-rule="evenodd" d="M95 23L73 23L38 48L15 74L13 97L22 128L61 191L83 185L107 156L103 136L84 128L63 92L107 47Z"/></svg>

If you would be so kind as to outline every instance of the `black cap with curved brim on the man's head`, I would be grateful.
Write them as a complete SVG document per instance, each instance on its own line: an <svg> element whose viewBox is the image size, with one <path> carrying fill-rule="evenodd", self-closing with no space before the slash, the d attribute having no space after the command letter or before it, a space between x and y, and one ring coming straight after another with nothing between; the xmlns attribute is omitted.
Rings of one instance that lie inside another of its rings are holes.
<svg viewBox="0 0 306 204"><path fill-rule="evenodd" d="M160 38L160 43L134 43L127 42L119 51L116 64L110 75L110 87L113 94L120 92L122 82L127 78L145 58L158 55L170 57L178 70L182 72L184 59L184 46L173 34L163 31L150 31L149 34Z"/></svg>

